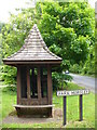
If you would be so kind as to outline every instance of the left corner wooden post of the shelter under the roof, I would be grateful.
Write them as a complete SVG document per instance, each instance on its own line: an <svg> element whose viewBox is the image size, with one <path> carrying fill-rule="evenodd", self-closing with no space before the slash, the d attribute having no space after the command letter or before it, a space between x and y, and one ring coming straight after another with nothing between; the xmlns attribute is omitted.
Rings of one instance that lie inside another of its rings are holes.
<svg viewBox="0 0 97 130"><path fill-rule="evenodd" d="M17 104L20 100L20 67L17 67Z"/></svg>

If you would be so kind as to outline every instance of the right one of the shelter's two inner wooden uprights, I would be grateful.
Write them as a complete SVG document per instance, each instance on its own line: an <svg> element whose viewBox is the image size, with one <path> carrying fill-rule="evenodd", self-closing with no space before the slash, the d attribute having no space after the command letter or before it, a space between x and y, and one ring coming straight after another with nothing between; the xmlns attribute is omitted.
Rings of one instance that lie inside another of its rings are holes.
<svg viewBox="0 0 97 130"><path fill-rule="evenodd" d="M39 100L39 104L41 104L41 74L40 74L40 67L38 67L37 82L38 82L38 100Z"/></svg>

